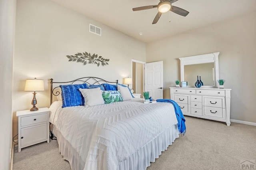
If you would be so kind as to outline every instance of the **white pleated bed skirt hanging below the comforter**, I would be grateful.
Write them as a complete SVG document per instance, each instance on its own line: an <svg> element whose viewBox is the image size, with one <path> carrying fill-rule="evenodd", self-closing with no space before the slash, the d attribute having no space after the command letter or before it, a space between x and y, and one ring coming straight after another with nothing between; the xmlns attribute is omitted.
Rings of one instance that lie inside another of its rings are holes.
<svg viewBox="0 0 256 170"><path fill-rule="evenodd" d="M65 160L68 160L72 170L87 170L84 168L85 162L81 156L65 140L62 134L52 125L52 132L57 137L59 152ZM146 170L150 162L155 162L161 152L167 150L167 147L179 137L178 126L173 125L159 134L155 139L148 142L144 147L137 150L130 158L121 162L118 170Z"/></svg>

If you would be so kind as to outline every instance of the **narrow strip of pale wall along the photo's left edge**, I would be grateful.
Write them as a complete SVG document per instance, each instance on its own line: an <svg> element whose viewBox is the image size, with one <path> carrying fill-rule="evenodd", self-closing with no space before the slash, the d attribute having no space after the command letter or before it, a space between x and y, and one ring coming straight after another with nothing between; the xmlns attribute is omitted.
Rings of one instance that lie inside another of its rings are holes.
<svg viewBox="0 0 256 170"><path fill-rule="evenodd" d="M0 0L0 170L10 169L16 0Z"/></svg>

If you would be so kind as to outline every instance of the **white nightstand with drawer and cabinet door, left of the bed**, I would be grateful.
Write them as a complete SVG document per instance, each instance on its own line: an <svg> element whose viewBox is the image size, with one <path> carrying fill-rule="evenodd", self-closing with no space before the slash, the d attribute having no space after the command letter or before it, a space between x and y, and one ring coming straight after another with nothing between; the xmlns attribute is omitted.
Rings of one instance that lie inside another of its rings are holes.
<svg viewBox="0 0 256 170"><path fill-rule="evenodd" d="M47 141L49 143L49 112L45 107L38 111L17 111L18 117L18 152L21 148Z"/></svg>

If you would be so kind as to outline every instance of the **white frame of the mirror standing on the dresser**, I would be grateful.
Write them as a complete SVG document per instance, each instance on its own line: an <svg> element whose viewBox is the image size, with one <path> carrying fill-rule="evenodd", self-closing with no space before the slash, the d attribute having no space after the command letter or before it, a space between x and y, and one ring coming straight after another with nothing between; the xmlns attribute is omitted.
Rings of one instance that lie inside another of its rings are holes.
<svg viewBox="0 0 256 170"><path fill-rule="evenodd" d="M202 63L214 63L214 85L213 86L204 86L205 88L218 88L219 83L219 54L209 53L203 55L194 55L190 57L180 57L180 81L184 80L184 65L192 65L192 64L202 64ZM203 87L203 86L202 86Z"/></svg>

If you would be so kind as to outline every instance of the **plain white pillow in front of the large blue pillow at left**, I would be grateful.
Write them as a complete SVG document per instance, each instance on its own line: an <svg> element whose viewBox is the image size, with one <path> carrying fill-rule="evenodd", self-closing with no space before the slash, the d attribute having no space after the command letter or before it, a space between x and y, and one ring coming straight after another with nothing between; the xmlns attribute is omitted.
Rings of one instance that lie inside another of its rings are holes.
<svg viewBox="0 0 256 170"><path fill-rule="evenodd" d="M79 89L84 97L85 107L103 105L105 103L100 87L95 89Z"/></svg>

